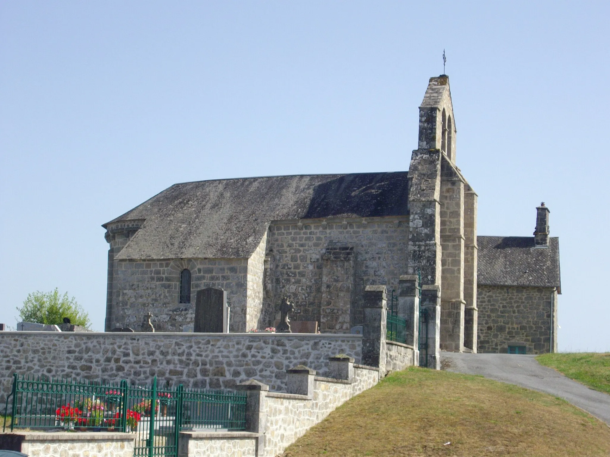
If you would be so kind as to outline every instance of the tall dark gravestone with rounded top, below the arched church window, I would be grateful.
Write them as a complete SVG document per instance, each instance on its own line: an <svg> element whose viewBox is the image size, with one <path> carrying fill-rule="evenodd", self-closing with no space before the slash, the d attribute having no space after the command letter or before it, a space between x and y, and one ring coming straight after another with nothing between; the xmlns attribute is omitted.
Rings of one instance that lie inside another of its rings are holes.
<svg viewBox="0 0 610 457"><path fill-rule="evenodd" d="M228 333L227 292L208 287L197 291L195 333Z"/></svg>

